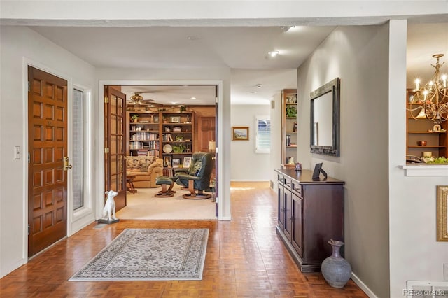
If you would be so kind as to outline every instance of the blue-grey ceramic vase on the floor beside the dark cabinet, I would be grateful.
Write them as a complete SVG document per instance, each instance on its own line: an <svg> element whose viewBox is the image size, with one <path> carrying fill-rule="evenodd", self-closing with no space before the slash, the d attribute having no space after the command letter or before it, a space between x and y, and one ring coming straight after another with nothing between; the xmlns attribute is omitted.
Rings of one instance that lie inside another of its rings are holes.
<svg viewBox="0 0 448 298"><path fill-rule="evenodd" d="M341 255L339 250L344 245L342 241L331 239L328 241L332 246L332 255L322 262L321 271L323 278L333 288L344 288L351 276L351 266Z"/></svg>

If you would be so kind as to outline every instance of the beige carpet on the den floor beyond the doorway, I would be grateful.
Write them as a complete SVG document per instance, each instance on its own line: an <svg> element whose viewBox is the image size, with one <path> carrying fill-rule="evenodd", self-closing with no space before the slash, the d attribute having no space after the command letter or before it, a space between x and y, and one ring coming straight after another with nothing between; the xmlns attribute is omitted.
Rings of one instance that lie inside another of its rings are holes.
<svg viewBox="0 0 448 298"><path fill-rule="evenodd" d="M174 185L174 197L154 197L160 188L137 188L127 192L127 206L117 212L118 219L134 220L210 220L216 219L213 199L183 199L181 190Z"/></svg>

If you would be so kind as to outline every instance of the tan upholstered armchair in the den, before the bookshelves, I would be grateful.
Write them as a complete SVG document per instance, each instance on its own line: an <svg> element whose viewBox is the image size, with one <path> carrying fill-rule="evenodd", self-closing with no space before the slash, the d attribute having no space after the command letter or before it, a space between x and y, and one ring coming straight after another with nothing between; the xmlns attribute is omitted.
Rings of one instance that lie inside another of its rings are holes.
<svg viewBox="0 0 448 298"><path fill-rule="evenodd" d="M132 176L134 187L155 188L155 178L162 176L163 159L153 156L127 156L126 175Z"/></svg>

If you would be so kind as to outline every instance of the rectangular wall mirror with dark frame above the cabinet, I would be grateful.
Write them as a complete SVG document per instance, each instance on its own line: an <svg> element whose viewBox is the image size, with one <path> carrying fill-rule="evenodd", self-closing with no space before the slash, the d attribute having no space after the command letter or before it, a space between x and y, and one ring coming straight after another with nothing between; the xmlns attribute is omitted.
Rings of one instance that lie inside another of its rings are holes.
<svg viewBox="0 0 448 298"><path fill-rule="evenodd" d="M309 96L311 153L339 156L340 79L318 87Z"/></svg>

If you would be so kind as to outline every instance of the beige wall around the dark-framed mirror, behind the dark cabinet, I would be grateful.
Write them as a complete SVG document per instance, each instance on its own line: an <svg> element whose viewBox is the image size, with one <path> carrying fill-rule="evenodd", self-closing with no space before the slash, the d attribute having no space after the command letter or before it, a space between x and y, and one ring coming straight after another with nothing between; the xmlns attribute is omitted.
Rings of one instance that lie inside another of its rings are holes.
<svg viewBox="0 0 448 298"><path fill-rule="evenodd" d="M309 152L309 92L341 78L341 155ZM353 276L388 297L388 27L338 27L299 68L297 159L344 180L344 250ZM403 132L404 134L404 132ZM403 146L404 148L404 146Z"/></svg>

